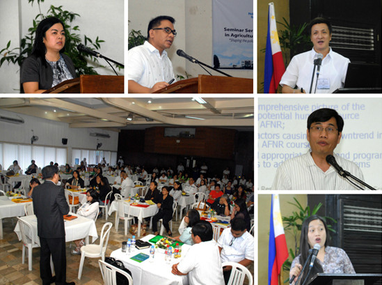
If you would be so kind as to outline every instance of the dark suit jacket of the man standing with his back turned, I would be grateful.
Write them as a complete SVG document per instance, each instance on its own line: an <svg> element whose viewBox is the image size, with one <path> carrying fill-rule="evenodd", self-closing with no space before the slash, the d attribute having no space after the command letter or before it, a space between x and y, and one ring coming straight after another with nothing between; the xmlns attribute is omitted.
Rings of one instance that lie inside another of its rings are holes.
<svg viewBox="0 0 382 285"><path fill-rule="evenodd" d="M32 192L33 210L37 217L37 231L41 238L64 238L63 215L69 213L63 187L51 180L38 185Z"/></svg>

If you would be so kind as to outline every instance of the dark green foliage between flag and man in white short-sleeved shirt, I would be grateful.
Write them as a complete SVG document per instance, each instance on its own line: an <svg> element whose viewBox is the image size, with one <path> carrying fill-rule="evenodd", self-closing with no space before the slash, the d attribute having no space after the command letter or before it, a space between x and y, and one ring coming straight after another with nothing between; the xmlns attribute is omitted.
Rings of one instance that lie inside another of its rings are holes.
<svg viewBox="0 0 382 285"><path fill-rule="evenodd" d="M278 33L278 38L280 40L280 47L283 50L285 58L285 66L288 65L287 52L289 51L289 58L297 51L306 51L312 48L310 43L310 37L305 33L306 26L308 24L304 23L300 26L290 26L285 17L282 17L284 22L278 22L285 27L285 30L280 30Z"/></svg>

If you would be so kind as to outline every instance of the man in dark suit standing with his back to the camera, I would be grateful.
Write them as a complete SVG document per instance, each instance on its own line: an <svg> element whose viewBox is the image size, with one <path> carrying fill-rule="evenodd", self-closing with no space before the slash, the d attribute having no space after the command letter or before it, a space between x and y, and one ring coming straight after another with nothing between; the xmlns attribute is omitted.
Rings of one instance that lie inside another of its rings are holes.
<svg viewBox="0 0 382 285"><path fill-rule="evenodd" d="M66 282L65 226L63 215L69 213L63 187L58 186L58 168L48 165L42 169L45 183L32 193L33 210L37 217L40 237L40 277L42 284L70 284ZM50 255L56 277L51 276Z"/></svg>

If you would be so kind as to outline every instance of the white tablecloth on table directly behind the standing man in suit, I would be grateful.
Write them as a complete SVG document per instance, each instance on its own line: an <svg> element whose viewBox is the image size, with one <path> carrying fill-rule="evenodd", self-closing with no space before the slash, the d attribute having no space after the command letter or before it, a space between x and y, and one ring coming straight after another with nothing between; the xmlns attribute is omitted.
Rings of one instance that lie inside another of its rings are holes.
<svg viewBox="0 0 382 285"><path fill-rule="evenodd" d="M95 222L93 219L88 219L87 217L81 217L74 213L70 213L70 215L75 215L78 218L73 219L72 221L65 221L65 240L66 242L70 242L72 240L80 240L81 238L86 238L86 244L88 244L88 237L93 237L92 242L97 240L98 233L97 228L95 227ZM21 219L25 222L29 222L33 228L33 235L35 236L35 241L40 245L40 238L37 235L37 217L35 215L29 215L25 217L21 217ZM17 234L19 240L21 240L21 231L19 229L19 222L17 222L15 226L15 233ZM29 237L31 237L31 233L26 233Z"/></svg>

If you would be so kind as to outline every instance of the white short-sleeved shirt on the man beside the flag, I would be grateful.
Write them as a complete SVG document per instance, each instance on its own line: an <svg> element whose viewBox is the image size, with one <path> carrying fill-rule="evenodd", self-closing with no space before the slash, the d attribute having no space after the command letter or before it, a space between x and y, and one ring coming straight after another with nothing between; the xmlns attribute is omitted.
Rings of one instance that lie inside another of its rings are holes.
<svg viewBox="0 0 382 285"><path fill-rule="evenodd" d="M290 61L287 70L281 77L280 85L290 86L294 88L303 88L306 93L309 93L310 82L312 81L312 72L314 68L313 61L317 59L317 52L313 48L309 52L297 54ZM344 86L345 78L347 76L347 66L350 60L337 52L333 52L330 48L329 53L322 59L321 70L319 79L325 80L328 86L319 89L317 86L316 93L333 93L338 88ZM317 72L317 68L316 68ZM312 93L315 91L315 84L317 82L317 75L313 81ZM320 81L319 81L320 82Z"/></svg>

